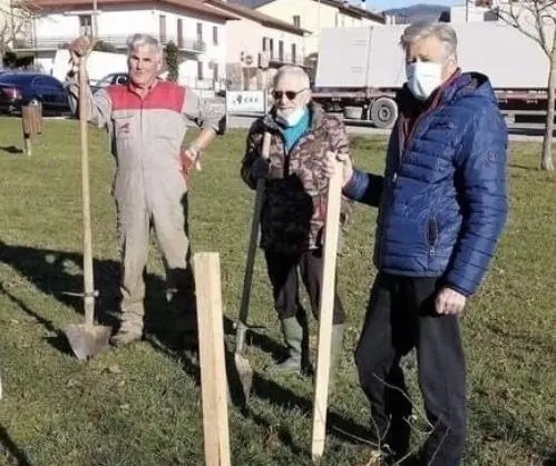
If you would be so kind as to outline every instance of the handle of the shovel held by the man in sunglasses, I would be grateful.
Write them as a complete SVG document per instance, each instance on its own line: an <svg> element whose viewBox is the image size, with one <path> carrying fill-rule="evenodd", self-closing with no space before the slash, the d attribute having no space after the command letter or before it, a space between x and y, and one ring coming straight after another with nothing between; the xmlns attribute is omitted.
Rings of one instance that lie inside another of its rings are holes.
<svg viewBox="0 0 556 466"><path fill-rule="evenodd" d="M271 135L265 132L263 137L263 148L261 157L265 160L270 157ZM253 268L255 265L256 242L259 239L259 225L261 221L261 210L264 200L264 179L256 182L255 206L253 208L253 218L251 220L251 235L247 249L247 260L245 264L245 274L243 276L242 300L240 304L240 321L237 323L235 351L241 353L245 343L245 331L247 323L247 314L251 300L251 285L253 282Z"/></svg>

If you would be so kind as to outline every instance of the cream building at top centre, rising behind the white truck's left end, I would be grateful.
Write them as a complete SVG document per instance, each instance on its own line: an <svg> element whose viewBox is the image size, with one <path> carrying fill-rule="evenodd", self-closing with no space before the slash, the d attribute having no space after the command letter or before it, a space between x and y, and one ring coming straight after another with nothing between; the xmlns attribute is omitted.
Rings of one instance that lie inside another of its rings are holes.
<svg viewBox="0 0 556 466"><path fill-rule="evenodd" d="M342 0L262 0L257 4L257 11L310 31L304 40L306 56L319 52L319 36L323 28L386 23L383 14Z"/></svg>

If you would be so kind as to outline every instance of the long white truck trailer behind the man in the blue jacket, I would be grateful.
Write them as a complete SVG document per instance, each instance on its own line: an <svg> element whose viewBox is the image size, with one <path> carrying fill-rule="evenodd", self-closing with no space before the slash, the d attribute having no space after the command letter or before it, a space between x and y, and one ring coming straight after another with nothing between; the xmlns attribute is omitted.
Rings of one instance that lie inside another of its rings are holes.
<svg viewBox="0 0 556 466"><path fill-rule="evenodd" d="M487 75L508 122L546 115L549 62L540 47L499 22L450 24L462 71ZM391 128L406 80L400 37L407 24L323 29L313 99L345 120Z"/></svg>

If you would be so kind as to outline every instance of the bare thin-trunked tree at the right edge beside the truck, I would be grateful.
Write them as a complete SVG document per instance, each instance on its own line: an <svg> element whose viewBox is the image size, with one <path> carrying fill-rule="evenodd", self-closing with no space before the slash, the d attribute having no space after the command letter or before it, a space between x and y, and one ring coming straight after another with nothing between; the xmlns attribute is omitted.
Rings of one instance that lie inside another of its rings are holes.
<svg viewBox="0 0 556 466"><path fill-rule="evenodd" d="M540 168L554 170L552 143L556 97L556 0L508 1L494 9L498 18L537 42L548 57L548 99Z"/></svg>

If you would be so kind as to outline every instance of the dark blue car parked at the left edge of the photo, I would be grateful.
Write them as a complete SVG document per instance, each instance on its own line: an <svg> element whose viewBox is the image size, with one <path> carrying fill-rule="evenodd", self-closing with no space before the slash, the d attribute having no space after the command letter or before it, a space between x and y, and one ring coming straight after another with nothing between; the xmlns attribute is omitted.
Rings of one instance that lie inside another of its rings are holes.
<svg viewBox="0 0 556 466"><path fill-rule="evenodd" d="M71 113L68 95L56 78L36 73L0 75L0 111L8 115L21 113L21 105L32 101L42 103L45 116L68 116Z"/></svg>

